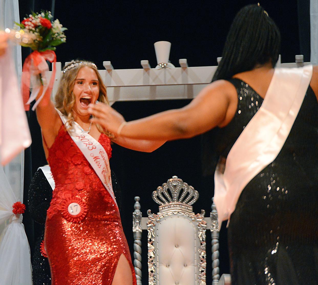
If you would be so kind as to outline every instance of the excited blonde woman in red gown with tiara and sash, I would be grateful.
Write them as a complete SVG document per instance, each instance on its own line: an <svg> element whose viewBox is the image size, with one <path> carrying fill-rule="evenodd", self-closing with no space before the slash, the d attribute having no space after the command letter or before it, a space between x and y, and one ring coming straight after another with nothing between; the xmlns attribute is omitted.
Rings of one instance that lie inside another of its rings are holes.
<svg viewBox="0 0 318 285"><path fill-rule="evenodd" d="M108 104L106 87L93 63L72 61L64 69L55 105L50 94L36 113L56 185L45 224L52 285L136 284L109 181L111 135L89 121L87 110L89 103ZM164 141L116 143L149 152Z"/></svg>

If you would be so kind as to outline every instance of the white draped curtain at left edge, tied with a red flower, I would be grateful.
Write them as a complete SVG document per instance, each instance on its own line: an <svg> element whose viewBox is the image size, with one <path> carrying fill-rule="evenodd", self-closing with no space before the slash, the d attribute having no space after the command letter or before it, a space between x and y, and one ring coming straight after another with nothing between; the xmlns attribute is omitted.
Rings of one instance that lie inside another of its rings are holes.
<svg viewBox="0 0 318 285"><path fill-rule="evenodd" d="M19 21L18 0L0 0L0 30L12 28L13 23ZM10 52L20 82L21 47L11 46ZM0 166L0 285L32 284L30 247L22 214L14 215L12 212L12 205L23 201L23 182L24 152L4 167Z"/></svg>

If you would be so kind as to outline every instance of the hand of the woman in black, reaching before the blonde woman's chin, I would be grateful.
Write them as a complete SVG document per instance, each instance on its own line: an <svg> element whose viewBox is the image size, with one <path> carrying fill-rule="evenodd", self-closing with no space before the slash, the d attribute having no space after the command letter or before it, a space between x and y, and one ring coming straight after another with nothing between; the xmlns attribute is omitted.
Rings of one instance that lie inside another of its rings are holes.
<svg viewBox="0 0 318 285"><path fill-rule="evenodd" d="M121 130L126 123L121 114L112 107L101 102L98 102L98 104L89 104L88 112L93 115L91 122L99 124L115 136L118 135L118 131Z"/></svg>

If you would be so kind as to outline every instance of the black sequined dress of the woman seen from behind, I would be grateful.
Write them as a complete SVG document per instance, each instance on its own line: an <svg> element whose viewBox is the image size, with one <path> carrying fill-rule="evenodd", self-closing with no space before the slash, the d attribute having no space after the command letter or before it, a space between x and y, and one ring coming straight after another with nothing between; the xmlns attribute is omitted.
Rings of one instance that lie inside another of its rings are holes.
<svg viewBox="0 0 318 285"><path fill-rule="evenodd" d="M245 82L229 81L238 109L214 132L225 158L263 102ZM318 103L311 87L280 153L242 191L228 242L232 285L318 284Z"/></svg>

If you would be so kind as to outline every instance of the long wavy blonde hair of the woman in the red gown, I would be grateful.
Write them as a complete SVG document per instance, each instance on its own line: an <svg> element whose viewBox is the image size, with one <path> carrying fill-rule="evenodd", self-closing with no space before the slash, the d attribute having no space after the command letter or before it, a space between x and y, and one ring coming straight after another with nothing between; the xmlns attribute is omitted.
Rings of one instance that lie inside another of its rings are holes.
<svg viewBox="0 0 318 285"><path fill-rule="evenodd" d="M75 63L77 63L77 65ZM67 69L67 67L70 67L72 64L75 64L75 66ZM97 70L96 65L86 60L72 60L71 63L65 65L63 68L64 70L66 69L66 71L62 74L59 88L55 95L55 107L63 115L67 116L67 121L66 121L67 128L73 127L73 122L74 122L73 107L75 104L75 95L73 94L73 88L75 85L75 79L77 77L77 74L79 73L79 70L83 68L84 66L88 66L92 68L96 73L96 76L99 82L99 87L100 87L98 101L109 105L107 92L106 92L106 86L100 77L100 74ZM96 124L96 127L101 133L106 134L110 138L114 137L113 134L103 129L99 124Z"/></svg>

